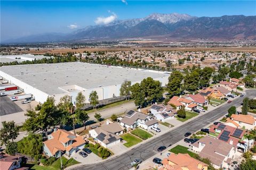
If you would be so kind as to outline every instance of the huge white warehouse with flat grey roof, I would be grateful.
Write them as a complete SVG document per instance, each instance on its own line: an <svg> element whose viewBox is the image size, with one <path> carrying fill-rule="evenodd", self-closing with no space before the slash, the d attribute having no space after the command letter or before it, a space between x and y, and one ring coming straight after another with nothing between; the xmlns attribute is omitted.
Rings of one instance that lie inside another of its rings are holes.
<svg viewBox="0 0 256 170"><path fill-rule="evenodd" d="M89 103L89 94L97 91L99 100L119 96L125 80L132 84L151 77L165 86L169 73L142 69L129 69L81 62L2 66L0 76L16 84L35 100L43 103L53 96L56 103L62 96L72 96L73 103L79 91ZM74 103L75 104L75 103Z"/></svg>

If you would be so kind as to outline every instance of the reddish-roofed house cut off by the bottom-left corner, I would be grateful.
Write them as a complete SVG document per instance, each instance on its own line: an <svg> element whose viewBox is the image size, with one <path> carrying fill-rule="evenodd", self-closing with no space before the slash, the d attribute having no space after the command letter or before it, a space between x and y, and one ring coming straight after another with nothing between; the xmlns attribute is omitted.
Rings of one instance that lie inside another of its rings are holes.
<svg viewBox="0 0 256 170"><path fill-rule="evenodd" d="M29 169L28 167L22 167L22 158L23 156L12 156L7 154L0 154L0 169L1 170L25 170Z"/></svg>

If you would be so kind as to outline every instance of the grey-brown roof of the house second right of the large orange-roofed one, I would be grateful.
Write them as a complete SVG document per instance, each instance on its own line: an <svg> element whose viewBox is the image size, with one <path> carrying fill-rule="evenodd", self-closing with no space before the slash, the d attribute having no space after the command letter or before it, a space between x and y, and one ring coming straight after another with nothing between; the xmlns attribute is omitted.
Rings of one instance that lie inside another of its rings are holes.
<svg viewBox="0 0 256 170"><path fill-rule="evenodd" d="M132 111L132 110L131 110ZM129 111L129 112L131 112ZM129 113L128 112L128 113ZM134 124L134 122L136 122L138 119L140 120L146 120L148 117L148 115L141 113L141 112L137 112L137 111L133 111L132 115L130 116L129 114L125 114L125 116L122 118L122 120L120 122L127 124L127 125L132 125Z"/></svg>

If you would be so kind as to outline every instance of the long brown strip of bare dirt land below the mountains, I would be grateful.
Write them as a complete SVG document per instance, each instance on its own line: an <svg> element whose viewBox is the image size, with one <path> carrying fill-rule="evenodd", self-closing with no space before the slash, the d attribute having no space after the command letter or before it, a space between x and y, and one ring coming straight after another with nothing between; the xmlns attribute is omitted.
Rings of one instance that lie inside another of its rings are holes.
<svg viewBox="0 0 256 170"><path fill-rule="evenodd" d="M39 49L39 50L23 50L20 53L29 53L29 54L45 54L45 53L53 53L53 54L62 54L67 52L75 52L75 53L83 53L84 51L95 52L95 51L120 51L120 50L132 50L132 49L140 49L140 50L175 50L175 51L222 51L222 52L256 52L256 47L215 47L215 48L169 48L169 47L124 47L124 48L79 48L79 49L71 49L71 48L61 48L61 49Z"/></svg>

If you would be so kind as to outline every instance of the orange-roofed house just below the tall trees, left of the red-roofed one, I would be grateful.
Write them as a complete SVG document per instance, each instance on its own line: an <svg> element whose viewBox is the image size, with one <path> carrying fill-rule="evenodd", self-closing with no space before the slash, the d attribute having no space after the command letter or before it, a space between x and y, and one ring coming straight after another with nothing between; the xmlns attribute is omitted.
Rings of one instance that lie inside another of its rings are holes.
<svg viewBox="0 0 256 170"><path fill-rule="evenodd" d="M173 96L167 104L176 106L177 110L181 109L182 106L185 106L187 111L193 111L197 107L197 104L195 104L193 100L178 96Z"/></svg>

